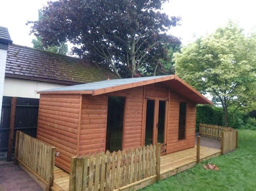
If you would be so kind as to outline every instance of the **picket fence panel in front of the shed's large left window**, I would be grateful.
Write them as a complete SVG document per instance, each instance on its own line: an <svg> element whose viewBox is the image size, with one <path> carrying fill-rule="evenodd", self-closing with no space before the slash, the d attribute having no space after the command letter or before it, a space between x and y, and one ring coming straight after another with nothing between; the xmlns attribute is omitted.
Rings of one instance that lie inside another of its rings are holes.
<svg viewBox="0 0 256 191"><path fill-rule="evenodd" d="M160 178L161 144L71 158L69 191L111 191Z"/></svg>

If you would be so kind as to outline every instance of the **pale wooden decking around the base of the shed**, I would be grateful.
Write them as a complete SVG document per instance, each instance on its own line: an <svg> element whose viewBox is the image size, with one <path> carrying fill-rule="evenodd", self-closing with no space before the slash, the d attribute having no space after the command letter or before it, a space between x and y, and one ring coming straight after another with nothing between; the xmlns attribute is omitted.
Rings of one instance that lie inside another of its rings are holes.
<svg viewBox="0 0 256 191"><path fill-rule="evenodd" d="M220 156L221 150L200 147L200 160ZM185 171L196 165L196 147L161 156L161 180ZM53 191L68 191L69 174L55 166Z"/></svg>

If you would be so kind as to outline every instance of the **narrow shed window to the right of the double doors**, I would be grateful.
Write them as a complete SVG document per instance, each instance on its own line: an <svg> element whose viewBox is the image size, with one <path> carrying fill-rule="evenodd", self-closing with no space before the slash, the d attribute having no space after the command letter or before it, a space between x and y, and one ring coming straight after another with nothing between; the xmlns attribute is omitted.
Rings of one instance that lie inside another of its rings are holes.
<svg viewBox="0 0 256 191"><path fill-rule="evenodd" d="M186 102L180 102L179 103L179 135L178 135L178 140L185 139L186 110L187 110L187 103Z"/></svg>

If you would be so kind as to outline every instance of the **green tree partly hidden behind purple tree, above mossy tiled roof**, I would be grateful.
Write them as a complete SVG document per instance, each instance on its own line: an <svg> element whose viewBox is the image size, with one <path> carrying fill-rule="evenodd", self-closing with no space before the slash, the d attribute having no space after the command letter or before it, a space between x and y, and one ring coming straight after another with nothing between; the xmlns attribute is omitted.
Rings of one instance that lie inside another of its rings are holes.
<svg viewBox="0 0 256 191"><path fill-rule="evenodd" d="M44 19L42 15L42 10L38 9L38 20ZM68 47L66 42L61 42L58 46L57 45L51 45L51 46L44 46L42 43L42 38L38 36L36 39L32 40L33 48L40 49L40 50L46 50L48 52L58 53L66 55L68 52Z"/></svg>

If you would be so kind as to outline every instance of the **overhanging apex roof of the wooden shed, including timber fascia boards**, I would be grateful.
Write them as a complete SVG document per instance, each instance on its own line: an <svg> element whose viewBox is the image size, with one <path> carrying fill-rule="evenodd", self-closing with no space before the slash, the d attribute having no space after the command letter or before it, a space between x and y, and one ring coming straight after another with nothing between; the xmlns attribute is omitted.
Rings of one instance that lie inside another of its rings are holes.
<svg viewBox="0 0 256 191"><path fill-rule="evenodd" d="M100 82L93 82L87 84L80 84L75 86L68 86L62 88L54 88L49 90L38 91L39 94L91 94L100 95L104 93L110 93L114 91L134 88L138 86L144 86L148 84L154 84L162 82L169 86L174 92L181 94L184 97L201 104L212 104L210 100L204 97L201 93L181 80L176 75L168 76L152 76L141 78L129 78L129 79L116 79L105 80Z"/></svg>

